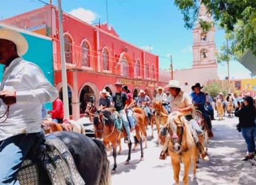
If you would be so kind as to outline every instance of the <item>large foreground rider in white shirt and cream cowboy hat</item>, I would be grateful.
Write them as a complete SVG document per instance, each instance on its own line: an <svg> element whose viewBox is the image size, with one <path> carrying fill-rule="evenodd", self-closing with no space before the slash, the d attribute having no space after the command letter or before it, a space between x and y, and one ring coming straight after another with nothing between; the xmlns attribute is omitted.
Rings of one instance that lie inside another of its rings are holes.
<svg viewBox="0 0 256 185"><path fill-rule="evenodd" d="M18 184L16 176L31 147L42 134L42 104L58 92L42 70L21 56L28 51L25 37L0 28L0 63L5 65L0 88L0 184Z"/></svg>

